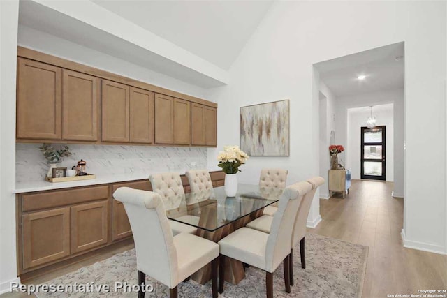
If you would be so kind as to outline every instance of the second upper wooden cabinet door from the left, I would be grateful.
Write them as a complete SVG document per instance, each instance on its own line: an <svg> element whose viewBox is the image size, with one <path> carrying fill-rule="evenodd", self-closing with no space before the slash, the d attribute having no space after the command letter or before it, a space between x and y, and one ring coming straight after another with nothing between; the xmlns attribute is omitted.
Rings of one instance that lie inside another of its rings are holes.
<svg viewBox="0 0 447 298"><path fill-rule="evenodd" d="M62 84L62 138L98 140L99 79L64 69Z"/></svg>

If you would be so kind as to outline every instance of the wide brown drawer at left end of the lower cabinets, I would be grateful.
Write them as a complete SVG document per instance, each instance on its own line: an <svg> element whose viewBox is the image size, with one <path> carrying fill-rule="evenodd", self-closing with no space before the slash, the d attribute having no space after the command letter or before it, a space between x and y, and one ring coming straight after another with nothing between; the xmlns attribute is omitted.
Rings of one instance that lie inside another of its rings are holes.
<svg viewBox="0 0 447 298"><path fill-rule="evenodd" d="M34 193L31 195L22 195L22 211L28 212L107 198L109 198L109 187L106 185L74 188L68 191Z"/></svg>

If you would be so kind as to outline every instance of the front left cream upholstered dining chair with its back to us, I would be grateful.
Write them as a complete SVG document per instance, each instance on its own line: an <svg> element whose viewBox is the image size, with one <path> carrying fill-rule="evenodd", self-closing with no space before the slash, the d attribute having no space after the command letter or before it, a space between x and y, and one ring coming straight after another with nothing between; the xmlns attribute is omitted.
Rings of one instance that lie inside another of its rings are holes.
<svg viewBox="0 0 447 298"><path fill-rule="evenodd" d="M137 256L138 284L146 274L167 285L170 297L177 297L177 285L211 262L212 297L217 298L219 245L191 235L173 236L161 196L152 191L118 188L113 197L123 202L131 223ZM138 297L145 293L140 290Z"/></svg>

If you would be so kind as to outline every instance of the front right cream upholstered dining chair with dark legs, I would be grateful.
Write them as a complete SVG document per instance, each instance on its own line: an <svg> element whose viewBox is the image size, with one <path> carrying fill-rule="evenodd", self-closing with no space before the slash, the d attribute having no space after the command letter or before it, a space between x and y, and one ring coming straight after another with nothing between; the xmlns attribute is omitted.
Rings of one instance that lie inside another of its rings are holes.
<svg viewBox="0 0 447 298"><path fill-rule="evenodd" d="M293 223L302 196L311 188L308 182L302 181L288 186L284 190L279 199L278 211L273 216L270 234L250 228L240 228L219 241L219 292L223 292L226 257L263 269L266 272L268 298L273 297L273 272L282 261L286 292L291 292L288 258Z"/></svg>

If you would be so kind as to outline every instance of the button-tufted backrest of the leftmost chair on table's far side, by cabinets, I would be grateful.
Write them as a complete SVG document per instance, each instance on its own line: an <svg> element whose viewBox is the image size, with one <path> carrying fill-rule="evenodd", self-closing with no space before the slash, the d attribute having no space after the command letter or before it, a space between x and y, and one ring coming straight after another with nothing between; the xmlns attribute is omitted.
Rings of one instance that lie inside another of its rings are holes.
<svg viewBox="0 0 447 298"><path fill-rule="evenodd" d="M166 210L179 207L179 202L182 201L184 195L182 179L179 173L152 174L149 176L149 180L152 184L152 191L161 196Z"/></svg>

